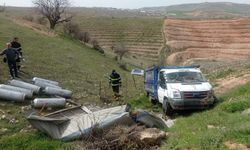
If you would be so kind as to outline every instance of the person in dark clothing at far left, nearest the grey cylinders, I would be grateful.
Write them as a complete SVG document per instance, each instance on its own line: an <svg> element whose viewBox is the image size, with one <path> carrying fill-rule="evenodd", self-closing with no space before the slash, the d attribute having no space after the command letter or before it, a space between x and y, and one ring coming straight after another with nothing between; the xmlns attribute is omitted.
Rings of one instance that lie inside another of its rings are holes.
<svg viewBox="0 0 250 150"><path fill-rule="evenodd" d="M6 46L7 48L0 55L6 56L7 64L12 79L14 79L15 77L18 78L17 66L16 66L16 58L18 57L18 52L17 50L11 47L11 43L7 43Z"/></svg>

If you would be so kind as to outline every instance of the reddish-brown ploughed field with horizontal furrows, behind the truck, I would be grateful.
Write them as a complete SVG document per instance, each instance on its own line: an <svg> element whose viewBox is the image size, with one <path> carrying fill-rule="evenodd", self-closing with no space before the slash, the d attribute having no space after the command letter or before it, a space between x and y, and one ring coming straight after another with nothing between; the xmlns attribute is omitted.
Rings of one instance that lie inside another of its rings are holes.
<svg viewBox="0 0 250 150"><path fill-rule="evenodd" d="M195 58L244 60L250 56L250 19L164 22L168 64Z"/></svg>

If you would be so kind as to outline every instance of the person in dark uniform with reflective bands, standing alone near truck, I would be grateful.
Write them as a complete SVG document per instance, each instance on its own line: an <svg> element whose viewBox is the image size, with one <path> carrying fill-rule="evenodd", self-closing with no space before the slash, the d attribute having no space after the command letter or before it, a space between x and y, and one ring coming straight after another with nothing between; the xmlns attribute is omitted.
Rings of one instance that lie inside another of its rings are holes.
<svg viewBox="0 0 250 150"><path fill-rule="evenodd" d="M109 84L112 86L113 92L114 92L114 97L118 98L119 95L119 88L121 86L121 77L120 75L113 70L112 73L109 76Z"/></svg>

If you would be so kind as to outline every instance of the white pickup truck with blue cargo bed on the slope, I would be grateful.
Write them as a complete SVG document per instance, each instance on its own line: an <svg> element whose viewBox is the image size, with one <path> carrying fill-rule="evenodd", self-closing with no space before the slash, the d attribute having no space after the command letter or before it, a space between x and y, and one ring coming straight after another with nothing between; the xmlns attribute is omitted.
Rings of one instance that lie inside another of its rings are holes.
<svg viewBox="0 0 250 150"><path fill-rule="evenodd" d="M144 86L152 102L166 115L174 110L203 109L215 102L213 89L197 66L154 66L144 74Z"/></svg>

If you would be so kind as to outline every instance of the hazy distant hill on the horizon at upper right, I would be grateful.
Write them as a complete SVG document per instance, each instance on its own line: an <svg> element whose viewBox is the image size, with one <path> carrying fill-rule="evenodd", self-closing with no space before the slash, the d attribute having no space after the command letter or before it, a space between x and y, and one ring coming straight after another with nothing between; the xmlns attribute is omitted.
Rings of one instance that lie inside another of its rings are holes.
<svg viewBox="0 0 250 150"><path fill-rule="evenodd" d="M205 2L141 8L148 15L171 18L233 18L249 16L250 5L230 2Z"/></svg>

